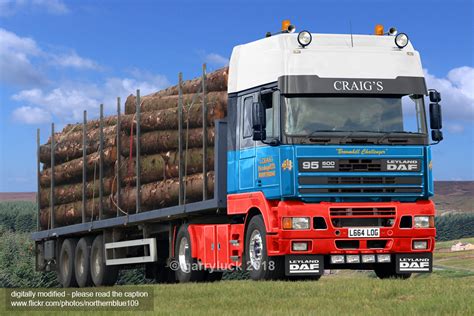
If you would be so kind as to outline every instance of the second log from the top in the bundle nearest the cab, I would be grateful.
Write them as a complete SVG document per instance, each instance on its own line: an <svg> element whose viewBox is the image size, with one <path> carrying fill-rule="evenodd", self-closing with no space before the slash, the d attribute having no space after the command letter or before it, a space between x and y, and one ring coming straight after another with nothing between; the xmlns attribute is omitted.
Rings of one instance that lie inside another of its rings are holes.
<svg viewBox="0 0 474 316"><path fill-rule="evenodd" d="M202 94L196 96L195 94L184 94L183 104L190 105L195 98L194 104L202 104ZM227 107L227 91L215 91L206 94L207 104L219 104L221 107ZM136 112L136 97L131 94L125 102L125 113L134 114ZM170 96L153 96L148 95L141 98L140 110L144 112L152 112L164 109L171 109L178 107L178 95Z"/></svg>

